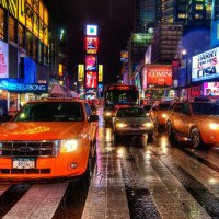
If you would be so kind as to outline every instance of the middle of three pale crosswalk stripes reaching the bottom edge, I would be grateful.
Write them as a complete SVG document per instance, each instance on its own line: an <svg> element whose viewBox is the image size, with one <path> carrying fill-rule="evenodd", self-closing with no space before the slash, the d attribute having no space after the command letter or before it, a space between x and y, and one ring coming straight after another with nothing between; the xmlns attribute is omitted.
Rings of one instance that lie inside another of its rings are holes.
<svg viewBox="0 0 219 219"><path fill-rule="evenodd" d="M105 148L105 135L99 127L100 147ZM106 136L111 135L108 130ZM116 218L129 219L129 209L119 159L111 152L112 141L107 152L97 157L94 174L89 187L82 219Z"/></svg>

